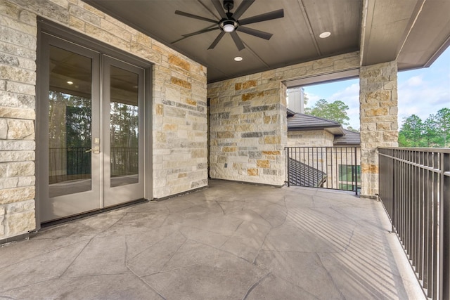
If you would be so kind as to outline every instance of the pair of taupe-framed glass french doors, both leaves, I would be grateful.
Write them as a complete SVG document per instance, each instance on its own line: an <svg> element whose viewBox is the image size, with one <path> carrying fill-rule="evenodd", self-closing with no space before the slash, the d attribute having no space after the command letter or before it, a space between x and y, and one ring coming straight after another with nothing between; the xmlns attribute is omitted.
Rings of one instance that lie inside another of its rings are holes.
<svg viewBox="0 0 450 300"><path fill-rule="evenodd" d="M41 39L41 222L143 198L144 69Z"/></svg>

